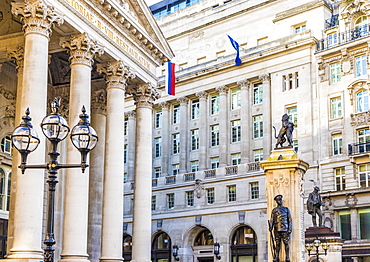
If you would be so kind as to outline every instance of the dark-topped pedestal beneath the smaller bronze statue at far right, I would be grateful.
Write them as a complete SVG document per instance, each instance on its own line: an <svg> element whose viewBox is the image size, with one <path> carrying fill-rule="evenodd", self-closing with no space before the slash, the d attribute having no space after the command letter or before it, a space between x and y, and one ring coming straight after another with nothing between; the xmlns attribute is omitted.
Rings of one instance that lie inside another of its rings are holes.
<svg viewBox="0 0 370 262"><path fill-rule="evenodd" d="M319 256L320 261L323 262L338 262L342 261L342 246L343 240L340 238L339 232L334 232L328 227L309 227L306 229L305 238L306 243L311 242L316 239L316 237L321 241L327 241L329 244L329 249L326 252L320 247L319 248ZM315 249L315 248L314 248ZM314 253L316 250L311 251L311 255L308 256L308 252L306 250L306 261L309 261L309 258L314 257Z"/></svg>

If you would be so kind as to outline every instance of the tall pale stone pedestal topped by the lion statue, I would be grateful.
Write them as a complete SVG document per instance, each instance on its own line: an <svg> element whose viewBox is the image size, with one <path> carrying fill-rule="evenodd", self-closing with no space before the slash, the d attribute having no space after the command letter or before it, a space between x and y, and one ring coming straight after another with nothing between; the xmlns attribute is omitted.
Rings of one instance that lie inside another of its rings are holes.
<svg viewBox="0 0 370 262"><path fill-rule="evenodd" d="M274 197L283 196L283 205L290 209L292 234L290 239L290 261L305 261L303 229L303 178L308 163L299 159L291 147L279 148L271 152L267 160L260 163L266 175L267 216L276 207ZM267 223L266 223L267 226ZM268 234L268 261L273 260L270 234ZM280 252L280 262L285 261L284 244ZM339 260L338 260L339 261Z"/></svg>

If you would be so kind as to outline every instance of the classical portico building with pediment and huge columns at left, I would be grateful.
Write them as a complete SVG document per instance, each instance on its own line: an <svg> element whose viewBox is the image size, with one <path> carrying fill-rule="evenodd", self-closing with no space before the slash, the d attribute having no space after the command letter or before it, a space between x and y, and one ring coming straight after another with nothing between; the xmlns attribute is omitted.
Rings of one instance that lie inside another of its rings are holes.
<svg viewBox="0 0 370 262"><path fill-rule="evenodd" d="M158 98L156 68L173 57L149 8L141 0L4 0L0 3L0 248L10 261L43 260L47 172L21 174L10 136L27 108L40 145L27 164L49 162L50 143L39 123L60 100L72 128L86 108L99 136L90 166L61 169L55 202L55 260L122 258L124 100L137 117L136 205L150 214L152 104ZM67 139L69 140L69 139ZM70 141L60 143L60 163L80 162ZM104 183L103 183L104 181ZM150 242L150 218L138 214L137 243ZM143 218L143 219L141 219ZM146 219L146 220L145 220ZM9 224L8 228L6 224ZM146 229L141 230L140 229ZM6 230L7 229L7 230ZM6 232L7 231L7 232ZM7 247L5 238L7 235ZM46 239L46 237L45 237ZM48 240L52 242L52 238ZM7 250L6 250L6 249ZM135 249L135 248L134 248ZM146 251L147 250L147 251ZM133 259L150 260L150 245Z"/></svg>

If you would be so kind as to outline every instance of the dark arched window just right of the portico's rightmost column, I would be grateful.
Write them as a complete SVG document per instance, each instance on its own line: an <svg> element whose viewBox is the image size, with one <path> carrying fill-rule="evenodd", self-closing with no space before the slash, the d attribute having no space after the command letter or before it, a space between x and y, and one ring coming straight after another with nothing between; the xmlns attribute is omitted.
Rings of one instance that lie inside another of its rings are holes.
<svg viewBox="0 0 370 262"><path fill-rule="evenodd" d="M171 261L171 238L165 232L158 233L153 239L152 261L153 262Z"/></svg>

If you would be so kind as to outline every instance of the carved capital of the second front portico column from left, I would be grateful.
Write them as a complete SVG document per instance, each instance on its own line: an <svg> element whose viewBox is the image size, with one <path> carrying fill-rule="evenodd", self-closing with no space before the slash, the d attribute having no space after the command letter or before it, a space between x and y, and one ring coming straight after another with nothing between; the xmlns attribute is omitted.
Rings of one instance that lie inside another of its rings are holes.
<svg viewBox="0 0 370 262"><path fill-rule="evenodd" d="M68 49L69 62L73 64L84 64L92 66L96 54L102 55L104 48L102 45L89 36L87 33L62 37L59 45Z"/></svg>

